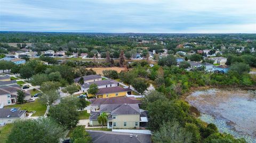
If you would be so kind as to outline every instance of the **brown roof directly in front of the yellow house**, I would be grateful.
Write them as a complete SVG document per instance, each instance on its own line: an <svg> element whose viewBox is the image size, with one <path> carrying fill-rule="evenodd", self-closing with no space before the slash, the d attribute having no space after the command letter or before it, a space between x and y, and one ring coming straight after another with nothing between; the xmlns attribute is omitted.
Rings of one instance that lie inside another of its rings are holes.
<svg viewBox="0 0 256 143"><path fill-rule="evenodd" d="M95 98L91 100L91 105L101 105L101 104L139 104L140 100L135 97L115 97L115 98Z"/></svg>

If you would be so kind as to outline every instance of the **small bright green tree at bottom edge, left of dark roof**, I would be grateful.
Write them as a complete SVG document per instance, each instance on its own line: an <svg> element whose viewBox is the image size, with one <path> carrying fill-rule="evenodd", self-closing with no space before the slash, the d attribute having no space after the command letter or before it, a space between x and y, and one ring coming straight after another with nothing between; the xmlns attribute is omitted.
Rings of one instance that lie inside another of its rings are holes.
<svg viewBox="0 0 256 143"><path fill-rule="evenodd" d="M82 126L76 127L70 133L70 140L74 143L92 143L90 134Z"/></svg>

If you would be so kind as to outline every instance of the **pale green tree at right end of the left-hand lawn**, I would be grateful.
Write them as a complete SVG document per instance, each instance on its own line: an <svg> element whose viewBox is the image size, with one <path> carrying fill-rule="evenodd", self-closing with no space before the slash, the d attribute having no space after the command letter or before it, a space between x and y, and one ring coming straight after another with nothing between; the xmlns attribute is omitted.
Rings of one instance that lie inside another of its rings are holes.
<svg viewBox="0 0 256 143"><path fill-rule="evenodd" d="M39 96L39 102L44 105L51 106L57 99L60 98L60 95L56 90L44 91L41 96Z"/></svg>

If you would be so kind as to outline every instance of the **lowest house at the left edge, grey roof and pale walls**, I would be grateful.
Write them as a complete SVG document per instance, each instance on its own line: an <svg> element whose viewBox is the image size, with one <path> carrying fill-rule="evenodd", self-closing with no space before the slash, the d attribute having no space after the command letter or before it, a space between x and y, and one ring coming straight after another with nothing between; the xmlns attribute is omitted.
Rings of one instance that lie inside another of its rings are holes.
<svg viewBox="0 0 256 143"><path fill-rule="evenodd" d="M13 123L18 119L25 119L26 110L20 108L0 108L0 123Z"/></svg>

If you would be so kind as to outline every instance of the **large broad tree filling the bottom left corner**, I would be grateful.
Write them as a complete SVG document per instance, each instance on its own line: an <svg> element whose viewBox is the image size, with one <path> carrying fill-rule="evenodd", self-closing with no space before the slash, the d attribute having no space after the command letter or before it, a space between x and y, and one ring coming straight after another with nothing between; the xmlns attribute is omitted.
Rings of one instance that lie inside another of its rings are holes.
<svg viewBox="0 0 256 143"><path fill-rule="evenodd" d="M15 121L7 143L60 142L65 137L65 129L49 117Z"/></svg>

